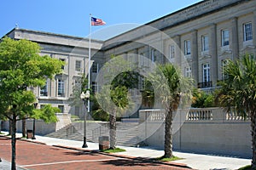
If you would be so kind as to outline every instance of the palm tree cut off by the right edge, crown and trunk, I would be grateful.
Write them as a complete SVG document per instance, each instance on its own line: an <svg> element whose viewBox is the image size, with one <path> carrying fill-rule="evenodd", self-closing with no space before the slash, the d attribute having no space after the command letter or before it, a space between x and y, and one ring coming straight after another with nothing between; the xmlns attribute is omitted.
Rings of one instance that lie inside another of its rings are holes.
<svg viewBox="0 0 256 170"><path fill-rule="evenodd" d="M242 56L236 61L229 61L224 67L227 75L220 82L217 99L226 111L235 109L244 119L251 120L252 127L252 167L256 167L256 60L252 55Z"/></svg>

